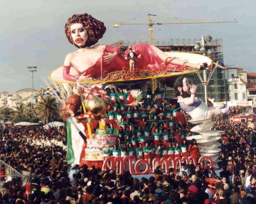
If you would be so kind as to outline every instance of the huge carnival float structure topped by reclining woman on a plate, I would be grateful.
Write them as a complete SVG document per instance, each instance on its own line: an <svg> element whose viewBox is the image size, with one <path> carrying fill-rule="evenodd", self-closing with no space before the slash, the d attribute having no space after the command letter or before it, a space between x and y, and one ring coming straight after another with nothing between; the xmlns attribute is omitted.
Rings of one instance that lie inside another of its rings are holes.
<svg viewBox="0 0 256 204"><path fill-rule="evenodd" d="M50 87L47 91L62 104L61 117L67 128L67 161L80 166L102 167L104 164L103 168L107 168L106 160L111 160L108 152L119 141L106 127L105 104L111 98L104 87L115 85L138 89L154 78L174 85L180 107L192 118L189 122L201 123L191 129L199 134L187 139L195 138L201 155L217 161L220 132L210 131L214 124L210 118L220 114L221 110L209 109L195 97L196 86L190 85L184 77L207 68L211 59L186 52L163 52L147 43L130 46L124 52L116 46L96 45L105 31L104 23L91 15L72 15L65 25L65 33L67 40L78 49L67 54L63 66L44 79ZM179 75L183 77L177 79ZM132 102L139 102L140 97L135 96L133 90L127 94L133 97ZM222 113L226 111L222 110ZM138 163L143 162L140 160L135 164L130 162L131 172L138 169Z"/></svg>

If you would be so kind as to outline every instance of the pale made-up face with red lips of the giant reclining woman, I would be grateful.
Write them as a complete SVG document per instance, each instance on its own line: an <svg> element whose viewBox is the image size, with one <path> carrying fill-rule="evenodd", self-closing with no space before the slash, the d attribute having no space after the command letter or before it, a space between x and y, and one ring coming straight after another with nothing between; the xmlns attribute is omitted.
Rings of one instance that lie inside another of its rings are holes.
<svg viewBox="0 0 256 204"><path fill-rule="evenodd" d="M87 30L82 25L82 23L72 24L70 26L70 30L71 30L71 36L74 43L77 46L84 46L88 39L88 34L87 34Z"/></svg>

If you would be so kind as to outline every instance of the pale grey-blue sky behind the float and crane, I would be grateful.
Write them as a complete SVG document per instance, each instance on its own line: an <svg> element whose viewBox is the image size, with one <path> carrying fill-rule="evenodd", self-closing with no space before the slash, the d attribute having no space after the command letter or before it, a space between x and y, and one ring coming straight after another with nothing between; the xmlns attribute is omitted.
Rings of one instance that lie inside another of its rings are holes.
<svg viewBox="0 0 256 204"><path fill-rule="evenodd" d="M0 92L31 88L27 66L37 66L34 88L46 87L43 76L63 65L76 47L67 41L64 26L73 14L88 13L104 22L99 41L148 41L147 26L120 26L116 22L175 22L174 17L197 20L238 20L238 23L154 26L155 41L222 38L224 61L256 72L256 1L253 0L0 0ZM133 20L132 20L133 19ZM176 20L177 21L177 20Z"/></svg>

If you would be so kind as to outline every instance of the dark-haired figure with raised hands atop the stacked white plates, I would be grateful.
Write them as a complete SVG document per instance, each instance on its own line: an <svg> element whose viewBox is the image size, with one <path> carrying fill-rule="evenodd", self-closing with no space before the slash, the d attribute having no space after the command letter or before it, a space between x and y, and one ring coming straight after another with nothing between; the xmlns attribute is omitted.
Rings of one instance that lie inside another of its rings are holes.
<svg viewBox="0 0 256 204"><path fill-rule="evenodd" d="M197 87L190 85L185 77L179 77L174 83L174 92L182 110L188 113L193 120L204 120L215 117L229 111L229 107L222 109L210 109L205 102L195 97Z"/></svg>

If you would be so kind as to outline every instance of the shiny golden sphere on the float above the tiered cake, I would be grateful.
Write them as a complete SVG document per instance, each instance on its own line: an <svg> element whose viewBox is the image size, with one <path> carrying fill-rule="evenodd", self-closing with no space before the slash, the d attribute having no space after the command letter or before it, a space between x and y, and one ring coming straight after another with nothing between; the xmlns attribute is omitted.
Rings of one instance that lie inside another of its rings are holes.
<svg viewBox="0 0 256 204"><path fill-rule="evenodd" d="M102 98L93 97L85 101L85 107L88 113L94 116L100 116L105 110L105 103Z"/></svg>

